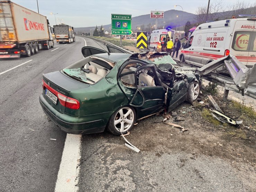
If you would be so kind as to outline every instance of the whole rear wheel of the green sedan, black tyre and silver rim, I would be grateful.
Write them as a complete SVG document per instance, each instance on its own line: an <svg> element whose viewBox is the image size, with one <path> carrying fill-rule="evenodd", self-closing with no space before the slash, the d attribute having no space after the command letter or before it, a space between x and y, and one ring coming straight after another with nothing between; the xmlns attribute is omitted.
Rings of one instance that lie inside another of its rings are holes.
<svg viewBox="0 0 256 192"><path fill-rule="evenodd" d="M123 117L122 117L123 116ZM120 107L112 114L108 122L108 130L114 135L121 135L121 128L123 127L122 134L130 131L136 119L136 112L130 106ZM115 125L116 124L116 125Z"/></svg>

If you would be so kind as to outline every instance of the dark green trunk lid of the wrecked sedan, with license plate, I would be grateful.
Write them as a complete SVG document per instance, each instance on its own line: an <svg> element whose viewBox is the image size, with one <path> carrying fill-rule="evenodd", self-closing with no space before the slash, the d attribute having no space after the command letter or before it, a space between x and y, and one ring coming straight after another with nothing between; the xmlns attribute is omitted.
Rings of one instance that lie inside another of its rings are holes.
<svg viewBox="0 0 256 192"><path fill-rule="evenodd" d="M54 109L61 113L65 111L65 106L61 104L61 98L68 97L71 91L88 86L88 84L76 81L60 71L43 74L43 97Z"/></svg>

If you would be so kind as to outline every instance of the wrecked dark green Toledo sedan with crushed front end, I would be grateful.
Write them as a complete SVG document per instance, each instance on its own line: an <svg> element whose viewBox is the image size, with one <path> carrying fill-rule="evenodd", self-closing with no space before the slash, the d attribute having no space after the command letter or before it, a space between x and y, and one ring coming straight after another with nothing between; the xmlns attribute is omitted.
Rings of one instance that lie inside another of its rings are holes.
<svg viewBox="0 0 256 192"><path fill-rule="evenodd" d="M85 58L43 74L40 104L63 131L91 134L107 128L121 135L137 120L198 98L200 76L175 71L170 55L120 52L83 47Z"/></svg>

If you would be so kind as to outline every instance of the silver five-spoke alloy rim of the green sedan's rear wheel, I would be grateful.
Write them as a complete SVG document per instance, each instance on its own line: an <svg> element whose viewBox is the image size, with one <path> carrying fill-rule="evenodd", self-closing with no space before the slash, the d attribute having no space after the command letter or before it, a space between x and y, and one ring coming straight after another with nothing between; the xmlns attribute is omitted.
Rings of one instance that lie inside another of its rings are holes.
<svg viewBox="0 0 256 192"><path fill-rule="evenodd" d="M134 118L134 112L130 108L121 108L117 112L114 120L116 130L119 132L127 131L132 126Z"/></svg>

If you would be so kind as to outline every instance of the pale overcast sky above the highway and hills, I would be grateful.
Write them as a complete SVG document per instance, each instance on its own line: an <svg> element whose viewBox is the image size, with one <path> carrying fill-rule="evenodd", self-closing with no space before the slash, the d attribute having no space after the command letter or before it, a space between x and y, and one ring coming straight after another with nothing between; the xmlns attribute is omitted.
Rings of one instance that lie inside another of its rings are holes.
<svg viewBox="0 0 256 192"><path fill-rule="evenodd" d="M12 0L13 2L37 12L36 0ZM211 2L214 0L211 0ZM222 0L227 6L237 0ZM241 0L240 0L241 1ZM253 3L254 0L243 0ZM149 14L151 10L181 10L195 13L198 6L207 6L208 0L38 0L39 13L46 16L50 25L62 23L73 27L90 27L111 23L111 13L127 14L132 17Z"/></svg>

